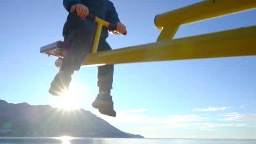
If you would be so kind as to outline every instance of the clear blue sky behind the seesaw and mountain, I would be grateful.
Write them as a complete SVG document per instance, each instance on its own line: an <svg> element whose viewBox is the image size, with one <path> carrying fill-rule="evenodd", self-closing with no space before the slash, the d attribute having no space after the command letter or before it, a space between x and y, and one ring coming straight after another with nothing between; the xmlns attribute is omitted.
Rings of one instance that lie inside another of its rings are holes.
<svg viewBox="0 0 256 144"><path fill-rule="evenodd" d="M154 18L201 0L112 0L127 36L108 38L113 49L155 42ZM115 65L112 96L117 117L91 103L97 68L76 72L69 103L48 93L58 72L40 47L63 40L62 0L3 0L0 5L0 99L89 110L118 129L146 138L256 139L256 57ZM202 11L203 13L203 11ZM174 38L256 25L256 11L183 25ZM235 51L235 50L234 50Z"/></svg>

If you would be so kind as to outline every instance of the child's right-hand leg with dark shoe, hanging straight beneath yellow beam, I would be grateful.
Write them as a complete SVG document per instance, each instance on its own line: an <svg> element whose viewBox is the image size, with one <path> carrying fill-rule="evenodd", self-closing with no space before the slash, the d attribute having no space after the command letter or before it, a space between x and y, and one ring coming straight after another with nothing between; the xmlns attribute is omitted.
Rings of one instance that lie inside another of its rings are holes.
<svg viewBox="0 0 256 144"><path fill-rule="evenodd" d="M111 47L105 40L100 40L98 51L111 50ZM98 87L99 94L93 102L92 106L99 109L99 112L112 117L116 116L114 110L114 102L110 91L113 83L114 65L106 65L98 67Z"/></svg>

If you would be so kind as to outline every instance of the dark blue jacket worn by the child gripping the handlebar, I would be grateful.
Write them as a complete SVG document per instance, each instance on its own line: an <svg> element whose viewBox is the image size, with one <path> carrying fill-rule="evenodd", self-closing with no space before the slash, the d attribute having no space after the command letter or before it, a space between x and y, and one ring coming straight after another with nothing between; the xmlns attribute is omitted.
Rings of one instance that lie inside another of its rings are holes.
<svg viewBox="0 0 256 144"><path fill-rule="evenodd" d="M71 7L78 3L86 5L89 9L89 13L93 13L105 21L109 21L113 24L120 21L114 4L109 0L63 0L64 8L69 12L67 21L63 27L63 36L67 35L75 28L88 27L93 30L97 28L97 24L93 21L83 20L80 16L75 16L70 13ZM108 29L104 26L102 27L101 37L108 37Z"/></svg>

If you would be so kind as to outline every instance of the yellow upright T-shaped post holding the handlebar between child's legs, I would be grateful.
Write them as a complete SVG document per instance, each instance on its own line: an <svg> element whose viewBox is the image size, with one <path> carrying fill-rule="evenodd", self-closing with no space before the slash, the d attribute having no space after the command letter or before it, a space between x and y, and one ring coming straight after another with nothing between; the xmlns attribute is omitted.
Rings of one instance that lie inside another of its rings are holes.
<svg viewBox="0 0 256 144"><path fill-rule="evenodd" d="M96 34L95 34L94 41L93 41L92 53L96 53L97 52L97 48L98 48L98 45L99 45L99 38L100 38L100 35L101 35L102 26L105 26L105 27L108 26L108 22L104 21L104 20L102 20L100 18L96 19L96 23L98 25L97 25Z"/></svg>

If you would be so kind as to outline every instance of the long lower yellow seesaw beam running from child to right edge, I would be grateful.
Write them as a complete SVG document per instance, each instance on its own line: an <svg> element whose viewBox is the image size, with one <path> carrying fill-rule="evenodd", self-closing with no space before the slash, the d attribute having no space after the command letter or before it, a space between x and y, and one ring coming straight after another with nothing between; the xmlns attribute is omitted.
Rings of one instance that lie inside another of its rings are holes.
<svg viewBox="0 0 256 144"><path fill-rule="evenodd" d="M256 55L256 26L90 53L82 65Z"/></svg>

